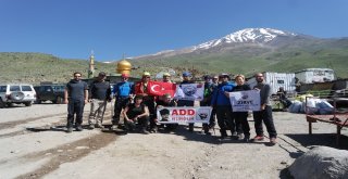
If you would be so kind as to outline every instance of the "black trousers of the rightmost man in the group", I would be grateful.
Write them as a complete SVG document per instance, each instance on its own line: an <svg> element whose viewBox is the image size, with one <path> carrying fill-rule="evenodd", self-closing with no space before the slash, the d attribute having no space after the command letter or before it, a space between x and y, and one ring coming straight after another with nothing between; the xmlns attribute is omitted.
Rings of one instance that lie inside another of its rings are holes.
<svg viewBox="0 0 348 179"><path fill-rule="evenodd" d="M276 130L273 123L272 107L266 105L266 107L259 112L253 112L254 130L258 136L263 136L262 122L264 123L270 138L276 138Z"/></svg>

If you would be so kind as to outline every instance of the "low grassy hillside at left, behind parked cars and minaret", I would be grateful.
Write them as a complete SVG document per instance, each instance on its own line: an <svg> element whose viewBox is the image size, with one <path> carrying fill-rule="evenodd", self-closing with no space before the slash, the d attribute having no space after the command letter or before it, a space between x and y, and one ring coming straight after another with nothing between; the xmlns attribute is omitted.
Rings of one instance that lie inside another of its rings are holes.
<svg viewBox="0 0 348 179"><path fill-rule="evenodd" d="M63 60L44 53L0 52L0 84L40 81L66 82L74 72L87 77L88 61ZM97 73L114 72L114 64L97 62Z"/></svg>

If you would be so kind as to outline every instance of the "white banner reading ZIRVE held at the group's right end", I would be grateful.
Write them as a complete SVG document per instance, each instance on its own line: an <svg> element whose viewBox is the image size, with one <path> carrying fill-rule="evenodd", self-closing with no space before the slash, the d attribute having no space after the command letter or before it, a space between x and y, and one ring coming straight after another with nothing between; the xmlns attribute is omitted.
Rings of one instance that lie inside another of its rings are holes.
<svg viewBox="0 0 348 179"><path fill-rule="evenodd" d="M233 112L260 111L260 91L237 91L228 94Z"/></svg>

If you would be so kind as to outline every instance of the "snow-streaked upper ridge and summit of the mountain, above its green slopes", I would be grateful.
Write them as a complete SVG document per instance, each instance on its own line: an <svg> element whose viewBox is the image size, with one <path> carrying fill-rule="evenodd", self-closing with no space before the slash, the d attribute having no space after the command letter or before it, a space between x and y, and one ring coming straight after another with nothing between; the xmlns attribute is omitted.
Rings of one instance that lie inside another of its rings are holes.
<svg viewBox="0 0 348 179"><path fill-rule="evenodd" d="M251 44L251 46L272 46L276 43L276 39L284 39L284 38L294 38L297 37L297 34L283 31L278 29L272 28L246 28L243 30L238 30L236 33L229 34L225 37L220 39L210 40L197 46L179 49L179 50L164 50L157 52L154 54L141 55L136 56L133 59L147 59L147 57L167 57L173 55L179 54L187 54L194 52L201 52L207 50L213 49L223 49L223 48L231 48L233 46L238 44Z"/></svg>

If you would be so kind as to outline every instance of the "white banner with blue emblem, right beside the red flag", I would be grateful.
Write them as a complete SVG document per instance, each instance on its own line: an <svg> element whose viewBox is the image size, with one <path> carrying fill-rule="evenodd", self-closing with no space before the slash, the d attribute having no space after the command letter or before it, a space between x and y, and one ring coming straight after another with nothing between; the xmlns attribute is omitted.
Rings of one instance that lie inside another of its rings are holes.
<svg viewBox="0 0 348 179"><path fill-rule="evenodd" d="M204 86L201 84L183 84L176 86L174 98L178 100L202 101L204 97Z"/></svg>

